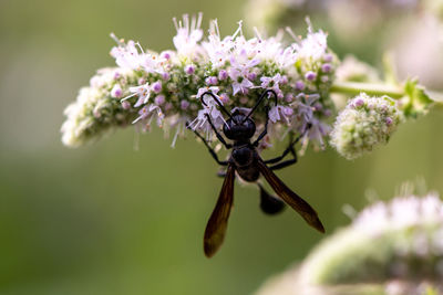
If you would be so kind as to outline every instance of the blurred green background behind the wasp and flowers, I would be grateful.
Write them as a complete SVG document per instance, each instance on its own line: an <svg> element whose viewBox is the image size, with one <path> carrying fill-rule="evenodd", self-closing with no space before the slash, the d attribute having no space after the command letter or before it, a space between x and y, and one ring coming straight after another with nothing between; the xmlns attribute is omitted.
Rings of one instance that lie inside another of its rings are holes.
<svg viewBox="0 0 443 295"><path fill-rule="evenodd" d="M159 51L173 46L172 18L198 11L206 28L218 18L223 34L244 15L235 0L0 0L0 294L250 294L322 238L291 210L264 215L258 191L237 185L227 240L207 260L203 232L222 179L192 136L172 149L154 130L135 150L127 128L62 146L63 108L96 69L114 64L110 32ZM330 32L332 49L336 40ZM380 57L375 48L367 60ZM367 203L368 188L388 199L422 176L443 191L441 126L433 112L370 156L308 151L279 176L331 233L348 222L344 203Z"/></svg>

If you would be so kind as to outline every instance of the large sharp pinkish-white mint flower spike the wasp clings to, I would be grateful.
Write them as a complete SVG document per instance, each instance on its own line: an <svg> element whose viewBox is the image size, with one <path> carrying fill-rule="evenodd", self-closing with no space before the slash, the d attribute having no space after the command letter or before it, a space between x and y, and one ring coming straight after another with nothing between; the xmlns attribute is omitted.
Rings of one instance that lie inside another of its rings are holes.
<svg viewBox="0 0 443 295"><path fill-rule="evenodd" d="M254 38L246 39L241 22L231 35L222 36L213 21L205 38L202 14L186 14L174 23L175 50L161 53L111 34L116 42L111 55L117 67L101 70L66 108L65 145L81 146L106 130L130 125L145 130L152 123L166 134L175 130L173 145L184 135L186 123L212 138L207 115L216 128L222 128L226 117L209 98L202 104L204 93L213 93L233 110L253 107L267 89L278 96L277 105L274 99L267 103L269 139L287 131L303 133L310 125L306 139L323 145L333 105L329 89L338 64L324 32L309 24L306 39L285 44L281 33L265 38L256 30ZM267 118L265 109L254 113L259 128Z"/></svg>

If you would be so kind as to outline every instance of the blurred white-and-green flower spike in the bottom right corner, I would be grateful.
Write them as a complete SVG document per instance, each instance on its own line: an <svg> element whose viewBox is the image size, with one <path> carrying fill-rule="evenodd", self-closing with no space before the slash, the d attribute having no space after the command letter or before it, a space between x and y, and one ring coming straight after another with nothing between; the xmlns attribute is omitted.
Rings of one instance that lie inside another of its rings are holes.
<svg viewBox="0 0 443 295"><path fill-rule="evenodd" d="M436 193L377 202L303 263L311 284L413 280L442 282L443 202Z"/></svg>

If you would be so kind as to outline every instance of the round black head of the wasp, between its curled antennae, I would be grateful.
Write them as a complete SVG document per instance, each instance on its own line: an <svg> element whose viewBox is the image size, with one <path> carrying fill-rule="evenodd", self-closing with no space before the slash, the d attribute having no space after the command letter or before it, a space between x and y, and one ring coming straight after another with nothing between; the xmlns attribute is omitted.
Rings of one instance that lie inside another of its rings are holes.
<svg viewBox="0 0 443 295"><path fill-rule="evenodd" d="M256 133L256 125L254 120L247 118L241 114L234 115L233 118L228 119L223 126L223 133L231 140L244 140L249 139Z"/></svg>

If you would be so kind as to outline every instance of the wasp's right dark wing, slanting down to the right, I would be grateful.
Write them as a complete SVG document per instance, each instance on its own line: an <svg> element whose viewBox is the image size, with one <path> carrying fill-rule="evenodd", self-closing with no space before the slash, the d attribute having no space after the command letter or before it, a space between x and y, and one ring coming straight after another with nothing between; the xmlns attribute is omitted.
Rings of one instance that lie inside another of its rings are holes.
<svg viewBox="0 0 443 295"><path fill-rule="evenodd" d="M320 232L324 232L323 224L321 224L320 219L317 215L316 210L312 207L301 199L297 193L291 191L261 160L258 159L258 169L260 173L265 177L275 192L290 207L293 208L309 225L315 228Z"/></svg>

